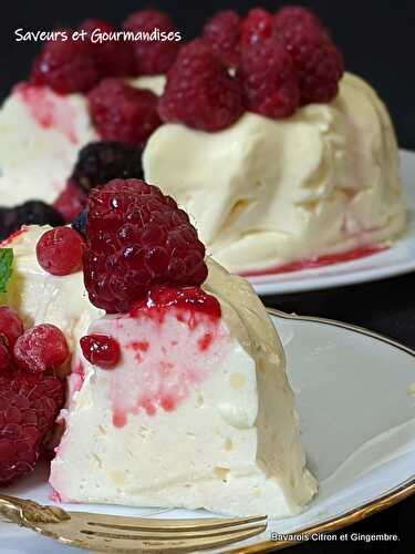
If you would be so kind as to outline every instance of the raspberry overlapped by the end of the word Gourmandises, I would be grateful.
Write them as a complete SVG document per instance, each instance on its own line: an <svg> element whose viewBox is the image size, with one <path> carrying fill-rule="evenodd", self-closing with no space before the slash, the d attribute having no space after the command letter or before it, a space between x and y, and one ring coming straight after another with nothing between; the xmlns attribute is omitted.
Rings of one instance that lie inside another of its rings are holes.
<svg viewBox="0 0 415 554"><path fill-rule="evenodd" d="M155 40L133 42L135 73L137 75L165 73L170 68L177 55L179 44L174 37L176 28L166 13L157 10L137 11L124 21L123 27L126 31L147 34L156 34L158 29L162 37L162 33L165 33L165 37L170 39L163 41L160 37L158 39L156 37Z"/></svg>

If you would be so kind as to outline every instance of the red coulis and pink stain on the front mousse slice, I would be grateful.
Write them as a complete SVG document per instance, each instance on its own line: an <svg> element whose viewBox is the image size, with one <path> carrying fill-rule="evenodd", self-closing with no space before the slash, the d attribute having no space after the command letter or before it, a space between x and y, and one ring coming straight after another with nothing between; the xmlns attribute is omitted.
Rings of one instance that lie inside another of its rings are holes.
<svg viewBox="0 0 415 554"><path fill-rule="evenodd" d="M153 301L136 304L128 316L115 317L114 334L125 363L111 373L114 427L124 427L128 413L174 411L226 355L219 302L201 289L184 290L175 289L177 304L174 289L153 290L148 294Z"/></svg>

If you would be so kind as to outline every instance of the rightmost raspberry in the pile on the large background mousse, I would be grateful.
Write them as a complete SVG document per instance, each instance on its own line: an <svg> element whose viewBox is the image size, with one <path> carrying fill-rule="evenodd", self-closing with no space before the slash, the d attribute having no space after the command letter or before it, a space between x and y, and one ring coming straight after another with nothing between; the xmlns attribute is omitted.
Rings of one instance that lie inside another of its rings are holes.
<svg viewBox="0 0 415 554"><path fill-rule="evenodd" d="M278 12L274 19L277 40L294 60L301 104L330 102L339 92L343 60L321 23L300 10L300 19ZM292 16L292 14L291 14Z"/></svg>

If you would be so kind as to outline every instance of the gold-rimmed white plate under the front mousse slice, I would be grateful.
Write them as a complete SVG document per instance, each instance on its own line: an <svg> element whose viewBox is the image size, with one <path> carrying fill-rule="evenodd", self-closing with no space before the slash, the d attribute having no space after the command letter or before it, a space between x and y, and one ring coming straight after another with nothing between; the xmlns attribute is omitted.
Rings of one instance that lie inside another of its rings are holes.
<svg viewBox="0 0 415 554"><path fill-rule="evenodd" d="M415 351L365 329L269 310L287 353L309 466L320 492L294 517L271 520L238 553L266 551L271 533L333 531L415 493ZM46 468L8 494L52 503ZM207 512L105 505L62 507L123 515L204 517ZM1 554L77 553L0 522ZM241 547L243 546L243 547Z"/></svg>

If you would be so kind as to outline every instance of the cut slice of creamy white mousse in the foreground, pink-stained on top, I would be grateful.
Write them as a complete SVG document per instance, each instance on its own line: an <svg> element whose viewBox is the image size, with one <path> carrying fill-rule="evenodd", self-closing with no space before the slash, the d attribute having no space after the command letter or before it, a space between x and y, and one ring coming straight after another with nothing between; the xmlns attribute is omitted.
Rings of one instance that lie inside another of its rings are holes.
<svg viewBox="0 0 415 554"><path fill-rule="evenodd" d="M221 317L169 307L91 325L122 359L84 361L51 466L63 501L280 517L315 493L276 330L245 280L208 264Z"/></svg>

